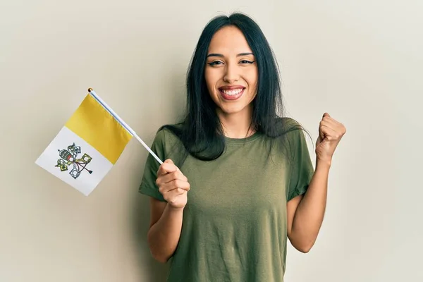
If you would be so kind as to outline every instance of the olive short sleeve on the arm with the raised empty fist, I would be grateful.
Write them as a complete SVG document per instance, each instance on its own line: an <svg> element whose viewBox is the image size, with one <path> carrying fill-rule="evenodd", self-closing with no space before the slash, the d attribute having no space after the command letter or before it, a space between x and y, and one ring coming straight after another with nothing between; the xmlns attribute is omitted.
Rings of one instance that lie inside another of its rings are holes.
<svg viewBox="0 0 423 282"><path fill-rule="evenodd" d="M303 130L293 130L288 134L290 135L292 162L290 162L287 202L307 191L314 174L314 168Z"/></svg>

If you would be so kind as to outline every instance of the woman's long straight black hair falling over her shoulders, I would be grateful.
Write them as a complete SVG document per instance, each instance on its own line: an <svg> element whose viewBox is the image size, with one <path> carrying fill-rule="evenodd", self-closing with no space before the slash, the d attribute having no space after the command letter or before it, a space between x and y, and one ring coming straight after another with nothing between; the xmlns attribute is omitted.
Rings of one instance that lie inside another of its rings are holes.
<svg viewBox="0 0 423 282"><path fill-rule="evenodd" d="M216 16L204 27L190 61L186 78L185 117L176 125L164 125L160 128L171 130L180 139L185 148L185 157L190 154L197 159L210 161L219 158L225 150L223 128L216 114L216 104L207 90L204 69L213 35L229 25L238 27L243 32L256 58L257 94L252 101L250 128L271 138L299 128L298 123L290 123L297 126L288 129L284 122L286 119L281 118L284 108L278 63L259 25L243 13Z"/></svg>

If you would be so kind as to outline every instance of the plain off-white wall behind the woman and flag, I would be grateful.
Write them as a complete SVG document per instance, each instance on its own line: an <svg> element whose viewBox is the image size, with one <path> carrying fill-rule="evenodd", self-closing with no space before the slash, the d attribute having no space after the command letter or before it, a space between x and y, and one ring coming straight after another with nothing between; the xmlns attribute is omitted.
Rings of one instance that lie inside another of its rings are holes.
<svg viewBox="0 0 423 282"><path fill-rule="evenodd" d="M182 113L202 28L232 11L262 27L313 142L325 111L348 130L317 243L289 247L286 281L423 280L422 1L227 2L1 1L1 281L164 281L137 192L142 145L89 197L35 159L88 87L151 144Z"/></svg>

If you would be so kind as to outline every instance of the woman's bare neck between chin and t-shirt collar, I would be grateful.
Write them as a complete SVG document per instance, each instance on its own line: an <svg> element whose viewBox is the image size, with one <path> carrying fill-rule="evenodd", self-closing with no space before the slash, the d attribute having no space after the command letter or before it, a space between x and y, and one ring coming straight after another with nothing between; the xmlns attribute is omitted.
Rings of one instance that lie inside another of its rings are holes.
<svg viewBox="0 0 423 282"><path fill-rule="evenodd" d="M229 138L245 138L253 135L255 130L250 128L252 109L245 109L235 114L225 114L218 111L223 126L223 133Z"/></svg>

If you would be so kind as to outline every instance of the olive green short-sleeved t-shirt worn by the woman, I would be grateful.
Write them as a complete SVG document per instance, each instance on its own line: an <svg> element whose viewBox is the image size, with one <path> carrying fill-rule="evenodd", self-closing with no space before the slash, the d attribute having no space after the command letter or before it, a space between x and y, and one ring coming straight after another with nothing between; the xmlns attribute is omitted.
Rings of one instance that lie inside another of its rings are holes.
<svg viewBox="0 0 423 282"><path fill-rule="evenodd" d="M214 161L185 160L180 171L190 191L167 281L283 281L286 203L305 193L314 173L302 130L286 137L287 146L272 146L270 155L269 138L255 133L226 137L226 150ZM160 130L152 150L163 161L173 159L176 142L171 131ZM149 154L140 192L164 201L155 183L158 168Z"/></svg>

